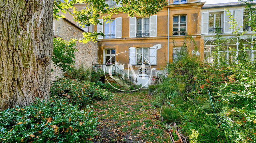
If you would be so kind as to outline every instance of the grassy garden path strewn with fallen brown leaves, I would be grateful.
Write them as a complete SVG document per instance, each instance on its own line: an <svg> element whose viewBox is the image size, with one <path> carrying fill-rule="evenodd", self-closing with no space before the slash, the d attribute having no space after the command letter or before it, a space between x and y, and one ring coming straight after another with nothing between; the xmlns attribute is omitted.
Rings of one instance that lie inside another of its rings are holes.
<svg viewBox="0 0 256 143"><path fill-rule="evenodd" d="M94 143L170 142L165 126L156 120L147 93L115 93L110 101L98 102L94 115L101 122Z"/></svg>

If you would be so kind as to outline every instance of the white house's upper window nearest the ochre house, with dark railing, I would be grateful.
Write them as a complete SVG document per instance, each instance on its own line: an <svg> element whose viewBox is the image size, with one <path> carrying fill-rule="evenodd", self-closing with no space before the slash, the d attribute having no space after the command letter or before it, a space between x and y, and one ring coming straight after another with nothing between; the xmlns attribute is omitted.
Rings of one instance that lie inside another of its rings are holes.
<svg viewBox="0 0 256 143"><path fill-rule="evenodd" d="M221 13L209 14L209 33L223 33Z"/></svg>

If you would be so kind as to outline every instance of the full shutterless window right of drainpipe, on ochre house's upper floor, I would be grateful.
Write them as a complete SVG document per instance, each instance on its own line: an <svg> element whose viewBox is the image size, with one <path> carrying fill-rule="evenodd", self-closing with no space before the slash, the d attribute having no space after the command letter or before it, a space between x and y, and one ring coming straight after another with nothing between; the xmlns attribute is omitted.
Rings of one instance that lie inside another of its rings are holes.
<svg viewBox="0 0 256 143"><path fill-rule="evenodd" d="M186 35L186 15L173 16L173 35Z"/></svg>

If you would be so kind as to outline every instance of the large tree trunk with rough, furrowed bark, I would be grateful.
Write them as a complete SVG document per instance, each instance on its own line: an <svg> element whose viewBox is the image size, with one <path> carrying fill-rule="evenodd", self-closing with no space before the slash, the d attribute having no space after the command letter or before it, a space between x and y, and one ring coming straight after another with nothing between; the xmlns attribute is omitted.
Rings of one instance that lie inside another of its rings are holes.
<svg viewBox="0 0 256 143"><path fill-rule="evenodd" d="M48 99L53 0L0 0L0 110Z"/></svg>

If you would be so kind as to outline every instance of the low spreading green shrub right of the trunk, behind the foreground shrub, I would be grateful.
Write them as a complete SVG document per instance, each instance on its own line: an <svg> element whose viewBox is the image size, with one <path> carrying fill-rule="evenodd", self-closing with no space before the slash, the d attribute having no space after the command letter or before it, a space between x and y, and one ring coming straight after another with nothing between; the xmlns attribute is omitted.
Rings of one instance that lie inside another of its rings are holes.
<svg viewBox="0 0 256 143"><path fill-rule="evenodd" d="M61 78L52 84L51 95L55 98L70 98L71 104L78 105L80 109L95 101L112 98L108 90L94 84L94 82Z"/></svg>

